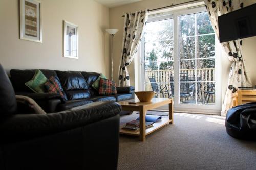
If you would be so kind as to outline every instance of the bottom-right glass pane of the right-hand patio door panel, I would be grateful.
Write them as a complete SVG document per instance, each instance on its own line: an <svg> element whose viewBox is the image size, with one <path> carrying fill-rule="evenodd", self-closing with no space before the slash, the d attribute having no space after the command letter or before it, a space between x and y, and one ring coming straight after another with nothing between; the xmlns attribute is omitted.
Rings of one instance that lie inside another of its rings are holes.
<svg viewBox="0 0 256 170"><path fill-rule="evenodd" d="M215 104L215 83L197 83L197 103Z"/></svg>

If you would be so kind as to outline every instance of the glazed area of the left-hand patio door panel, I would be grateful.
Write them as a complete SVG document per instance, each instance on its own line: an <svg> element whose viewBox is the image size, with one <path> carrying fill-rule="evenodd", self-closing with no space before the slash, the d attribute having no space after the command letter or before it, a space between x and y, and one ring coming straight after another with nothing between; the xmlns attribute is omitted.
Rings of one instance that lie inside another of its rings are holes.
<svg viewBox="0 0 256 170"><path fill-rule="evenodd" d="M173 18L165 16L148 22L144 31L145 90L155 91L156 97L174 95Z"/></svg>

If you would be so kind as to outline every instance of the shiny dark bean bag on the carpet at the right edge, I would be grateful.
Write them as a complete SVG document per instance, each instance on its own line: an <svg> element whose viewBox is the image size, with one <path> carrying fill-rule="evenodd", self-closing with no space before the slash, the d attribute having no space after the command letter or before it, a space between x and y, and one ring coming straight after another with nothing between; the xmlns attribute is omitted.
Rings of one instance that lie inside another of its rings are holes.
<svg viewBox="0 0 256 170"><path fill-rule="evenodd" d="M229 109L225 126L227 133L232 137L256 140L256 102Z"/></svg>

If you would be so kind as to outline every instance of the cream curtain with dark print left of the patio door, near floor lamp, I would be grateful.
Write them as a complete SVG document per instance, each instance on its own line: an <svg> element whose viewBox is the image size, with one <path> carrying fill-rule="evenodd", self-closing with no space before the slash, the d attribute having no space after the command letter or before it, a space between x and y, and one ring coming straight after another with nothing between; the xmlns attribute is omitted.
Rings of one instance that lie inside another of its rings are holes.
<svg viewBox="0 0 256 170"><path fill-rule="evenodd" d="M119 65L118 77L119 87L130 86L130 77L127 67L131 64L137 52L142 32L147 21L147 15L147 10L124 15L122 58Z"/></svg>

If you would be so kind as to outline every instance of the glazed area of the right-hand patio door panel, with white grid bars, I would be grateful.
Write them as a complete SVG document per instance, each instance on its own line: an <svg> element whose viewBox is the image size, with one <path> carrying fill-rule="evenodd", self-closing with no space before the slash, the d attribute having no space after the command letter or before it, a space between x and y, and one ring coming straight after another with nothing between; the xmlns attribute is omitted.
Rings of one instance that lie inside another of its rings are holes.
<svg viewBox="0 0 256 170"><path fill-rule="evenodd" d="M180 103L215 104L215 34L207 12L178 16Z"/></svg>

